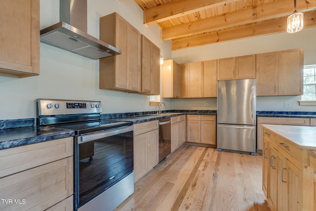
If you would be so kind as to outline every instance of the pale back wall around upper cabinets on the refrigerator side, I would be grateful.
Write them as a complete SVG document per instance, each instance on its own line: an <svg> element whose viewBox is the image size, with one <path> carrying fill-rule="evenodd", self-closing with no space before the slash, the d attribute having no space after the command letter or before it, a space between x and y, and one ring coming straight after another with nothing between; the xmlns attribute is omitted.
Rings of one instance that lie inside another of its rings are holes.
<svg viewBox="0 0 316 211"><path fill-rule="evenodd" d="M205 61L248 54L272 52L278 50L304 48L304 65L316 64L316 28L303 29L295 34L286 32L231 42L220 42L205 46L176 50L173 59L181 63ZM316 106L299 106L300 96L257 97L257 111L315 111ZM187 109L187 105L208 110L216 109L216 98L176 99L172 101L173 109ZM284 108L284 102L291 108Z"/></svg>

